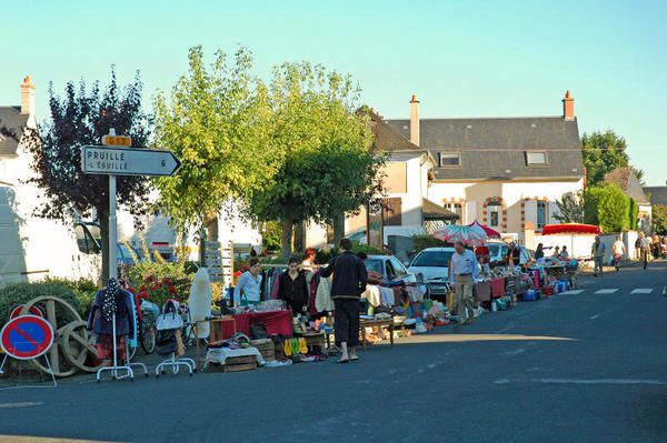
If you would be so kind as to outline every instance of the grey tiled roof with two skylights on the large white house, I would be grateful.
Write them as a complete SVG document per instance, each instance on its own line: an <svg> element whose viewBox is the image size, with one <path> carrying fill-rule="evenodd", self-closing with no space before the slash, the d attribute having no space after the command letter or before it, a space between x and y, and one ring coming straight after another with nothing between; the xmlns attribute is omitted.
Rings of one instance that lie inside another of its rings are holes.
<svg viewBox="0 0 667 443"><path fill-rule="evenodd" d="M405 138L409 120L387 120ZM422 119L420 148L461 154L460 167L438 168L439 180L579 179L584 161L577 120L561 117ZM546 165L527 165L526 151L547 152ZM507 172L509 171L509 172Z"/></svg>

